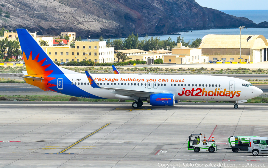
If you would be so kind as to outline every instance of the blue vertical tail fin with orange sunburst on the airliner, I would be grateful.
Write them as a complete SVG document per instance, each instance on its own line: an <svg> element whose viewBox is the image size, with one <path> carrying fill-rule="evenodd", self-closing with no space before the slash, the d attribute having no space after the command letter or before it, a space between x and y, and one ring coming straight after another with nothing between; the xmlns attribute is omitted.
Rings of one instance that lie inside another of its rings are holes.
<svg viewBox="0 0 268 168"><path fill-rule="evenodd" d="M28 75L63 74L26 29L17 29Z"/></svg>

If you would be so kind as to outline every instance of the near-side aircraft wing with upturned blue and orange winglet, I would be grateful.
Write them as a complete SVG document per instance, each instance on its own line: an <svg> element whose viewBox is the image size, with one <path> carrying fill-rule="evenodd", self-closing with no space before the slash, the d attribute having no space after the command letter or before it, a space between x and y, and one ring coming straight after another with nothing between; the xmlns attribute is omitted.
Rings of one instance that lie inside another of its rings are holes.
<svg viewBox="0 0 268 168"><path fill-rule="evenodd" d="M88 81L93 88L100 88L106 90L112 90L110 93L120 94L120 95L134 95L134 94L146 94L146 93L155 93L152 91L144 91L144 90L131 90L131 89L118 89L118 88L111 88L111 87L100 87L94 79L91 77L91 74L88 71L85 71Z"/></svg>

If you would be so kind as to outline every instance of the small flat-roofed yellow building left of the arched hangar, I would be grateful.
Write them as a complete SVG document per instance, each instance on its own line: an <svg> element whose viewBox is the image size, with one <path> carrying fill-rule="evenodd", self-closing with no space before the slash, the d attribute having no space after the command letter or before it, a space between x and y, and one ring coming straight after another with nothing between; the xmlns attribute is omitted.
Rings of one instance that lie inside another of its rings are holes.
<svg viewBox="0 0 268 168"><path fill-rule="evenodd" d="M164 63L191 64L208 62L208 57L202 55L201 48L178 47L172 48L171 52L171 55L164 56Z"/></svg>

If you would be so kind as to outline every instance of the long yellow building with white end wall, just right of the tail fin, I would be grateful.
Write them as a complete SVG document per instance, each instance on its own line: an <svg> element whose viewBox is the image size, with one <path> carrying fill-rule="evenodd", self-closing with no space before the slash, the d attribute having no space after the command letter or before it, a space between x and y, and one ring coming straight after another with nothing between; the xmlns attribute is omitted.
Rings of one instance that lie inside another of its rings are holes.
<svg viewBox="0 0 268 168"><path fill-rule="evenodd" d="M53 61L94 61L113 63L114 48L106 47L106 41L76 41L75 48L69 46L42 46Z"/></svg>

